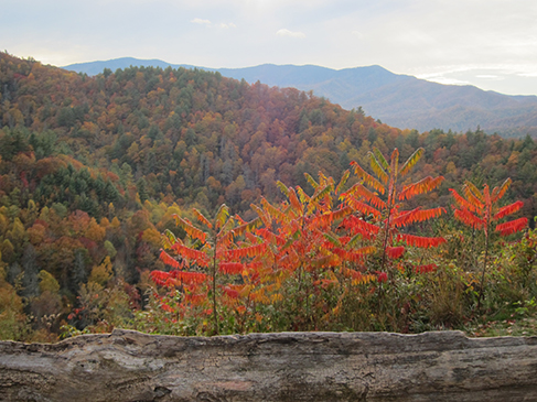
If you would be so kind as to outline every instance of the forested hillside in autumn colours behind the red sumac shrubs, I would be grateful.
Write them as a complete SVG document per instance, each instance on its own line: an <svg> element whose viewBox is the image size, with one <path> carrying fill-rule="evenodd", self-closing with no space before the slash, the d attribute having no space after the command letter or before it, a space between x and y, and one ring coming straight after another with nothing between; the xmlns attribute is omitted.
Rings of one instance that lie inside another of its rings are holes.
<svg viewBox="0 0 537 402"><path fill-rule="evenodd" d="M146 303L149 272L164 269L161 232L185 235L173 214L212 216L225 203L249 220L261 196L282 199L277 181L311 189L304 173L323 172L339 182L374 148L402 160L425 149L412 180L445 178L425 204L449 208L448 189L465 180L511 177L505 198L537 215L529 137L401 131L297 89L184 68L88 77L0 53L0 90L3 338L117 325Z"/></svg>

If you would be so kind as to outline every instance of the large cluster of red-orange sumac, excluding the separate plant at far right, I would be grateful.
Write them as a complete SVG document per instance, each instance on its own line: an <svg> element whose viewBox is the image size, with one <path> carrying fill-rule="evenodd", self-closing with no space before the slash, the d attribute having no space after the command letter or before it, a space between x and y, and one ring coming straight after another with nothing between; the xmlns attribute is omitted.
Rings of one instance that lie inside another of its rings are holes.
<svg viewBox="0 0 537 402"><path fill-rule="evenodd" d="M225 205L214 222L193 209L205 231L176 216L176 224L190 243L167 231L160 259L172 270L153 271L153 281L179 292L180 314L187 308L185 301L195 301L207 311L205 304L212 300L213 333L222 327L216 313L219 305L234 311L237 320L244 320L246 315L254 314L256 305L280 305L282 301L293 300L303 309L294 313L292 327L318 328L319 312L324 312L322 319L333 319L342 309L343 298L331 305L323 296L326 290L357 292L363 286L374 290L387 281L387 268L391 276L395 274L387 260L400 260L409 247L436 248L445 242L441 237L401 231L444 211L443 208L404 209L405 200L441 183L441 178L427 177L399 185L398 178L410 172L422 150L400 169L397 150L391 154L390 164L378 150L375 153L369 157L377 177L353 163L357 181L346 191L348 171L339 183L322 173L318 181L305 174L312 187L310 194L300 186L288 187L278 182L283 200L272 205L262 198L260 206L251 206L258 217L250 222L229 218ZM375 256L380 258L380 263ZM422 274L434 268L429 263L409 270ZM190 280L191 275L195 275L195 282ZM194 294L200 297L189 297ZM264 319L259 313L254 316Z"/></svg>

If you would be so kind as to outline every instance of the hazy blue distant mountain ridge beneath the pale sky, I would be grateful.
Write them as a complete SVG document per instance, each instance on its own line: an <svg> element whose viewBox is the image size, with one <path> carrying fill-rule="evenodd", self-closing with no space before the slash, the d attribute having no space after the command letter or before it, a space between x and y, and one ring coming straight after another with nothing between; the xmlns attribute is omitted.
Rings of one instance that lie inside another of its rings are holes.
<svg viewBox="0 0 537 402"><path fill-rule="evenodd" d="M160 59L132 57L72 64L63 68L97 75L130 66L201 68L223 76L261 82L269 86L313 90L343 108L363 110L389 126L428 131L453 131L476 127L504 137L537 135L537 97L508 96L474 86L430 83L409 75L398 75L374 65L345 69L304 65L264 64L246 68L207 68L170 64Z"/></svg>

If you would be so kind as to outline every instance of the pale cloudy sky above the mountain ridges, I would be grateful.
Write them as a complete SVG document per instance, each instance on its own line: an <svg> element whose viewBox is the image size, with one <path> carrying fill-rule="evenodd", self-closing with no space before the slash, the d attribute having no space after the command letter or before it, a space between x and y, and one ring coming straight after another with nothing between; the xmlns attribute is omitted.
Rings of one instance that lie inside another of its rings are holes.
<svg viewBox="0 0 537 402"><path fill-rule="evenodd" d="M0 48L55 66L380 65L537 95L535 0L0 0Z"/></svg>

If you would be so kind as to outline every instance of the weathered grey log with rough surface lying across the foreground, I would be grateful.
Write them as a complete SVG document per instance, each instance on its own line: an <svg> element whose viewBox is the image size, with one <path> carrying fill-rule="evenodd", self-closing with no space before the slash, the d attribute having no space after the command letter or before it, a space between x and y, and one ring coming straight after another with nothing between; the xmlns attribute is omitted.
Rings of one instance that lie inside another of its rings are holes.
<svg viewBox="0 0 537 402"><path fill-rule="evenodd" d="M536 401L537 337L460 332L0 343L2 401Z"/></svg>

